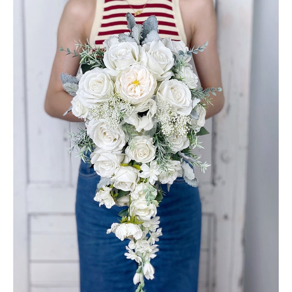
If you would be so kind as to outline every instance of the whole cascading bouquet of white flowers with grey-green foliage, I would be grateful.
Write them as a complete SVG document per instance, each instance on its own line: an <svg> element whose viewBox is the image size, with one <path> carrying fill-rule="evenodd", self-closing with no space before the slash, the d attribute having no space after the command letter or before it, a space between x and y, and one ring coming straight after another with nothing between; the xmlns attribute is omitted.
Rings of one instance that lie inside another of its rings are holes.
<svg viewBox="0 0 292 292"><path fill-rule="evenodd" d="M101 177L94 200L124 207L107 233L129 239L125 256L138 264L133 282L142 292L144 277L154 278L150 260L162 235L156 216L162 184L183 177L198 185L194 168L204 171L208 164L193 149L208 133L203 125L210 93L221 89L197 87L189 61L206 44L189 50L183 41L159 37L155 16L140 25L128 13L127 21L130 32L111 36L104 48L60 48L79 56L81 65L76 77L62 73L61 79L73 95L69 110L86 126L72 134L72 149Z"/></svg>

